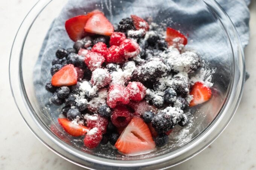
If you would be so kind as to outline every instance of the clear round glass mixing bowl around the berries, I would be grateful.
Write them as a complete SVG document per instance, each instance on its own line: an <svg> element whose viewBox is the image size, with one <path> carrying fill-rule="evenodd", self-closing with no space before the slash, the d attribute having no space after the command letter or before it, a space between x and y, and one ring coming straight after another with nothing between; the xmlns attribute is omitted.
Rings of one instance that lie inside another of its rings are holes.
<svg viewBox="0 0 256 170"><path fill-rule="evenodd" d="M207 67L215 70L212 75L212 98L191 110L194 119L186 135L178 138L174 136L168 146L150 154L125 156L109 146L94 150L85 148L81 138L70 137L59 128L57 118L61 107L49 102L50 94L44 89L44 84L51 77L50 60L55 56L54 51L43 59L39 55L44 39L49 36L47 31L66 1L39 0L17 32L9 63L14 100L35 136L62 158L89 169L164 169L193 157L210 145L234 115L245 78L244 54L239 36L216 1L192 0L189 5L186 5L186 0L80 2L59 17L65 21L83 12L100 9L112 22L131 14L152 16L154 22L163 21L167 26L187 33L187 48L196 50ZM190 18L194 9L200 10L199 19ZM69 42L62 24L54 31L64 31L62 46L69 48L72 42ZM211 24L211 27L206 27L207 24ZM201 28L204 28L204 32ZM219 36L218 41L212 38L216 34ZM54 42L51 46L56 50L59 44Z"/></svg>

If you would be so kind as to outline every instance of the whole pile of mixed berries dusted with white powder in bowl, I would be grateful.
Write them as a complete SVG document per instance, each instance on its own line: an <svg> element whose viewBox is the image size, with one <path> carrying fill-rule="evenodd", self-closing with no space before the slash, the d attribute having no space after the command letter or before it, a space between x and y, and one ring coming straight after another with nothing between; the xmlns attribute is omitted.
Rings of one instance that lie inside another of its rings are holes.
<svg viewBox="0 0 256 170"><path fill-rule="evenodd" d="M163 34L136 15L113 26L99 10L65 27L75 43L57 49L45 88L53 104L65 105L59 124L84 136L87 148L109 142L123 154L153 151L176 125L187 125L188 107L211 98L203 82L190 82L201 60L184 51L187 38L173 28Z"/></svg>

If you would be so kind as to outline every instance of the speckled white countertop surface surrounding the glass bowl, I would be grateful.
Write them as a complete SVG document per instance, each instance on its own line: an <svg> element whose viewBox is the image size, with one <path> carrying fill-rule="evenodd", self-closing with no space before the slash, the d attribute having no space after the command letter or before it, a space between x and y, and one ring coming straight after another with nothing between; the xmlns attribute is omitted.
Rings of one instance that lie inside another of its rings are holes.
<svg viewBox="0 0 256 170"><path fill-rule="evenodd" d="M82 169L55 155L30 132L12 99L8 62L12 40L29 9L37 0L0 0L0 170ZM256 169L256 1L252 0L251 39L245 49L251 77L236 115L226 130L203 152L172 169Z"/></svg>

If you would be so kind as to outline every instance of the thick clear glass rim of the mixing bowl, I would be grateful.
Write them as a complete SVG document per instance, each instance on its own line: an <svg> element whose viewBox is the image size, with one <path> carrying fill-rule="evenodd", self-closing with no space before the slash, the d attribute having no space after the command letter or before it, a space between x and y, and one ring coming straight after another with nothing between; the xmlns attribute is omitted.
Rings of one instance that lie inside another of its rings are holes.
<svg viewBox="0 0 256 170"><path fill-rule="evenodd" d="M9 81L12 91L12 96L14 97L15 103L18 107L21 117L32 131L32 133L45 145L47 148L55 152L60 157L88 169L102 168L111 169L116 168L135 168L135 167L147 167L147 168L168 168L182 163L189 158L194 157L199 152L203 151L207 146L210 145L226 128L232 119L238 104L241 100L242 91L245 81L245 63L244 63L244 53L242 44L240 42L238 33L227 16L226 12L219 6L215 0L202 0L209 6L209 8L216 15L219 16L224 28L226 28L226 33L230 38L229 42L233 52L233 64L232 73L233 79L230 83L229 94L226 103L223 105L222 109L218 113L218 116L211 122L211 124L192 141L181 146L181 148L176 149L174 152L161 155L155 158L148 158L144 160L109 160L106 158L99 158L93 155L86 154L82 151L73 150L72 147L67 145L65 142L59 140L56 136L52 136L52 133L43 128L37 118L32 114L33 110L29 106L24 95L23 79L22 79L22 69L21 69L21 59L23 53L23 45L26 40L26 36L34 23L38 15L44 7L47 6L52 0L39 0L26 15L22 21L17 34L14 38L14 42L11 49L10 60L9 60ZM229 31L227 31L229 30ZM232 35L232 36L231 36ZM15 60L18 57L19 60ZM233 101L235 102L233 102ZM79 154L82 152L83 155ZM166 156L167 155L167 156ZM171 160L171 161L170 161Z"/></svg>

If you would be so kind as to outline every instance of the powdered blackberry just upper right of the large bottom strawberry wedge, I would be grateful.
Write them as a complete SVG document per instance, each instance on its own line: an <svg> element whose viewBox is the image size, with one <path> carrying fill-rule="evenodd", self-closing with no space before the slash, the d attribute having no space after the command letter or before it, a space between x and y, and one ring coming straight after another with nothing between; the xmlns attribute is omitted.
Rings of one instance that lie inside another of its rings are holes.
<svg viewBox="0 0 256 170"><path fill-rule="evenodd" d="M151 122L158 133L168 132L173 127L171 116L163 112L157 113Z"/></svg>

